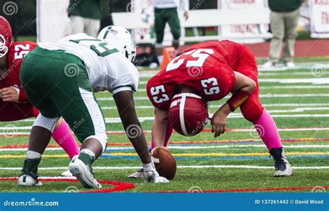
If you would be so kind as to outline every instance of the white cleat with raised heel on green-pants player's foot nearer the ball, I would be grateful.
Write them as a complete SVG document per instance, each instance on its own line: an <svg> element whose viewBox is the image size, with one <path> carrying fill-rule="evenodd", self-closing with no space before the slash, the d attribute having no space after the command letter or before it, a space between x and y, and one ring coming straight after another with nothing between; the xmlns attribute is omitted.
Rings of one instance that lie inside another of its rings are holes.
<svg viewBox="0 0 329 211"><path fill-rule="evenodd" d="M81 185L85 188L101 188L101 184L96 181L92 169L85 165L82 160L76 159L69 163L69 171L76 176Z"/></svg>

